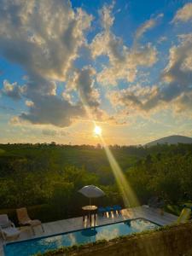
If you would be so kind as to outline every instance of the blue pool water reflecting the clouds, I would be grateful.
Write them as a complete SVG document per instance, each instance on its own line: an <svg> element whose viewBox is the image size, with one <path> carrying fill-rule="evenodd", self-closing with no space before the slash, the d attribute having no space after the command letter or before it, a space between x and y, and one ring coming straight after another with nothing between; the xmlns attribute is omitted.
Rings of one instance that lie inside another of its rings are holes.
<svg viewBox="0 0 192 256"><path fill-rule="evenodd" d="M110 240L117 236L139 233L143 230L154 230L157 224L143 218L127 220L116 224L96 226L95 228L77 230L56 236L47 236L28 241L18 241L4 247L6 256L29 256L35 253L44 253L48 250L69 247L74 244L89 243L101 239Z"/></svg>

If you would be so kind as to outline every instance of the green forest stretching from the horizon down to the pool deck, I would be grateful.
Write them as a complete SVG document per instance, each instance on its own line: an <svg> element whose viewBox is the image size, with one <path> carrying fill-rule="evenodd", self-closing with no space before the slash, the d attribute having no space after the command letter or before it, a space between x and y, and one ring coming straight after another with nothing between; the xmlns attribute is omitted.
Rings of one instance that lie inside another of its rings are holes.
<svg viewBox="0 0 192 256"><path fill-rule="evenodd" d="M178 213L192 200L192 144L153 147L109 147L140 204L153 195L166 201L166 210ZM105 196L97 206L123 201L104 148L100 144L0 144L0 212L16 222L15 209L27 207L43 222L82 214L89 200L78 190L95 184Z"/></svg>

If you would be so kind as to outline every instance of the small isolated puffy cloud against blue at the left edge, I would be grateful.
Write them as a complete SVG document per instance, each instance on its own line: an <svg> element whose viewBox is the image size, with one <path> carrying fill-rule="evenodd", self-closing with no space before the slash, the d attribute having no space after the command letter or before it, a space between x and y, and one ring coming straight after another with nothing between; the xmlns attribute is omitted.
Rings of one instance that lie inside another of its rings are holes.
<svg viewBox="0 0 192 256"><path fill-rule="evenodd" d="M4 80L3 81L3 90L1 90L2 94L4 96L9 96L15 101L20 100L22 97L22 94L24 93L25 87L19 86L16 82L13 84L10 84L9 81Z"/></svg>

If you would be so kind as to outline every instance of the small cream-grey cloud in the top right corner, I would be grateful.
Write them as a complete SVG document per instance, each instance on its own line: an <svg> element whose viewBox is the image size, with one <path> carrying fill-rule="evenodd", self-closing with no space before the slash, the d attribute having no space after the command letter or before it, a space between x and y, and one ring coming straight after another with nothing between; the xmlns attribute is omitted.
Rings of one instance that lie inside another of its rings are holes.
<svg viewBox="0 0 192 256"><path fill-rule="evenodd" d="M192 3L186 3L182 9L178 9L172 22L187 22L192 20Z"/></svg>

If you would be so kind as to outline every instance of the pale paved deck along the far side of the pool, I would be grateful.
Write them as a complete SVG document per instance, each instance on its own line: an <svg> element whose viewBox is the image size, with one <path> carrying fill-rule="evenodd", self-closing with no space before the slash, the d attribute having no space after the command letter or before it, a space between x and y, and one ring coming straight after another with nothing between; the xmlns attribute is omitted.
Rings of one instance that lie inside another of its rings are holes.
<svg viewBox="0 0 192 256"><path fill-rule="evenodd" d="M143 206L123 209L121 214L112 213L105 217L96 217L96 223L94 223L94 218L92 218L91 226L111 224L131 218L146 218L149 221L160 225L172 224L177 220L177 216L175 215L167 212L165 212L164 215L160 215L160 211L158 209ZM37 227L35 229L35 236L32 235L32 231L28 227L21 228L20 238L17 241L31 239L34 237L55 235L62 232L80 230L88 227L90 227L90 224L86 218L85 221L83 221L83 217L62 219L55 222L44 223L44 233L40 227ZM0 241L0 256L3 256L3 241Z"/></svg>

